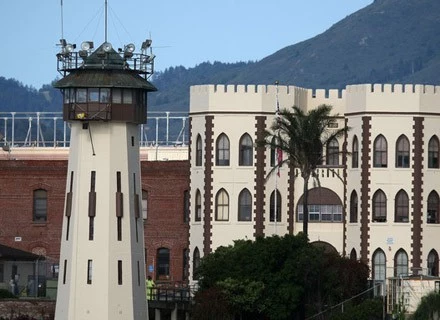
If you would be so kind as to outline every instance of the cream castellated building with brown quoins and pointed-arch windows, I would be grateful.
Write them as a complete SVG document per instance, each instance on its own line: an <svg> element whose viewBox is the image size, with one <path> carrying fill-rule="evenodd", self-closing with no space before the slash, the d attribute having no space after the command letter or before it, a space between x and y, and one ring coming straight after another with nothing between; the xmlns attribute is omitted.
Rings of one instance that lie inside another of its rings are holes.
<svg viewBox="0 0 440 320"><path fill-rule="evenodd" d="M327 157L320 187L310 186L310 241L362 259L377 281L438 276L440 87L388 84L192 87L190 274L235 239L302 231L298 171L266 179L274 151L254 147L277 100L281 108L332 105L338 126L351 128L329 146L348 155Z"/></svg>

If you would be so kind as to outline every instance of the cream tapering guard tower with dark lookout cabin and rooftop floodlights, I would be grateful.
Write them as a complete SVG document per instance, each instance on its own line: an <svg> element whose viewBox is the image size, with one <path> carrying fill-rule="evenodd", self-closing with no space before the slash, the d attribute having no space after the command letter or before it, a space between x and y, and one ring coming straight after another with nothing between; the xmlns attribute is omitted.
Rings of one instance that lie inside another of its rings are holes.
<svg viewBox="0 0 440 320"><path fill-rule="evenodd" d="M71 137L55 319L148 319L138 125L156 91L151 40L141 53L60 45Z"/></svg>

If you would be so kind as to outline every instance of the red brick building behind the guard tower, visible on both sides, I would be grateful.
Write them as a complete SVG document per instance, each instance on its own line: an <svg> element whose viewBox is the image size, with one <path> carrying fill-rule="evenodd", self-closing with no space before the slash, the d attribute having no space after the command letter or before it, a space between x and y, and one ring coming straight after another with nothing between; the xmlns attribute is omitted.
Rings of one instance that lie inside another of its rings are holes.
<svg viewBox="0 0 440 320"><path fill-rule="evenodd" d="M185 283L189 162L142 159L147 274L159 282ZM66 177L67 152L43 157L35 150L0 159L0 244L58 261ZM6 283L11 275L0 271L0 283Z"/></svg>

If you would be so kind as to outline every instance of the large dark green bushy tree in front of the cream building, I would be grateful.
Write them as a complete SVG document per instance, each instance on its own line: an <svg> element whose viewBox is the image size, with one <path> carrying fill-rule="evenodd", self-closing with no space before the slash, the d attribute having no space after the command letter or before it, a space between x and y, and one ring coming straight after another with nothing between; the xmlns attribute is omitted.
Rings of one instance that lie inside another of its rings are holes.
<svg viewBox="0 0 440 320"><path fill-rule="evenodd" d="M194 319L297 319L365 289L368 268L310 244L304 234L238 240L205 256ZM319 300L320 305L317 305ZM212 318L214 319L214 318ZM223 319L223 318L222 318Z"/></svg>

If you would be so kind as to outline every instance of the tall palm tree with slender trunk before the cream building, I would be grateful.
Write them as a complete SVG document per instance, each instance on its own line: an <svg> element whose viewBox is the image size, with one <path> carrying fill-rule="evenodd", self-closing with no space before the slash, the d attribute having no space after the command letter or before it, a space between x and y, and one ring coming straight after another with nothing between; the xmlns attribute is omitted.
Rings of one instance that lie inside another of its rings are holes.
<svg viewBox="0 0 440 320"><path fill-rule="evenodd" d="M323 104L307 113L296 106L292 109L282 109L270 130L265 131L264 139L257 143L260 146L281 150L287 156L285 159L280 159L270 173L284 164L300 170L304 179L303 233L307 236L309 180L317 178L316 169L323 163L324 148L333 139L344 136L349 128L346 126L337 128L337 115L331 115L332 106Z"/></svg>

